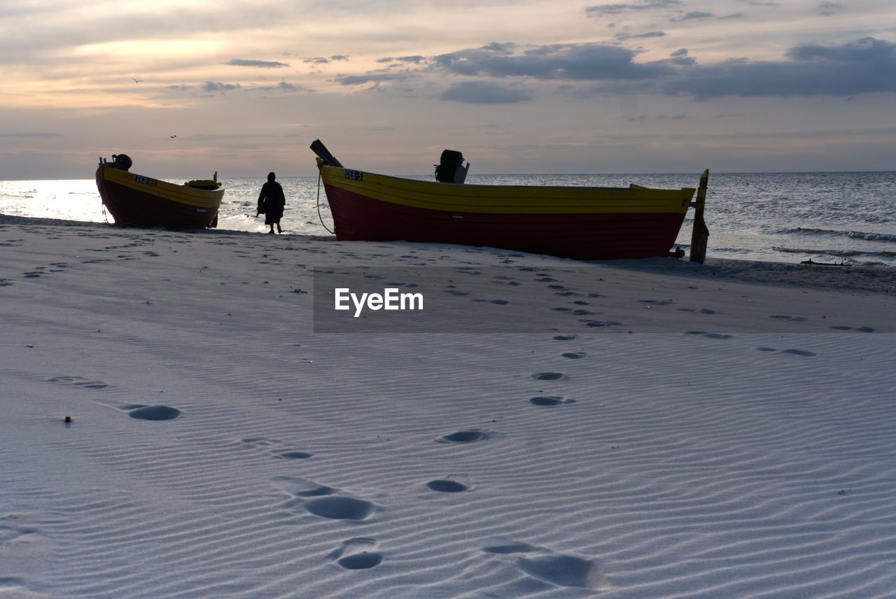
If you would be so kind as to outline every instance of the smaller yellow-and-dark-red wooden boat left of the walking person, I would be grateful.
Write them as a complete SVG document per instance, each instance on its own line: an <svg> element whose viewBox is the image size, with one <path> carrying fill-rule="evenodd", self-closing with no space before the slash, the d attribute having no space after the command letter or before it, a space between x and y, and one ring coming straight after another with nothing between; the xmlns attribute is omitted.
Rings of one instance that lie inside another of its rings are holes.
<svg viewBox="0 0 896 599"><path fill-rule="evenodd" d="M103 204L119 227L166 227L170 229L218 226L218 209L224 186L218 173L211 179L183 185L129 172L132 160L113 154L112 161L99 158L97 188Z"/></svg>

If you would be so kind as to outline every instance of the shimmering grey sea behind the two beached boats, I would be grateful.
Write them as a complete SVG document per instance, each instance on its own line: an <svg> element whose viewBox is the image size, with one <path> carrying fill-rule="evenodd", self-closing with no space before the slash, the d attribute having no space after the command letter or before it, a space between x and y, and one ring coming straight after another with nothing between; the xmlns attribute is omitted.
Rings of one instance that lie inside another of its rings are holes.
<svg viewBox="0 0 896 599"><path fill-rule="evenodd" d="M468 184L696 187L693 175L474 175ZM159 177L164 178L164 177ZM414 178L432 180L432 175ZM177 182L178 179L168 179ZM332 218L313 176L280 177L287 197L286 235L330 235ZM218 228L268 230L255 218L264 180L222 179L227 187ZM710 173L705 218L710 258L818 261L896 268L896 172ZM90 179L0 182L0 214L111 221ZM689 213L690 216L690 213ZM678 236L690 247L691 218Z"/></svg>

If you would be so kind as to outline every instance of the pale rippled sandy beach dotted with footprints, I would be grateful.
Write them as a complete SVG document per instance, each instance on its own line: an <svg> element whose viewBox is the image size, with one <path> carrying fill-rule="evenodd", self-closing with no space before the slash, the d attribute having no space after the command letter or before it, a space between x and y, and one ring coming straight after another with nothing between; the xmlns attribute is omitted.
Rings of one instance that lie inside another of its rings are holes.
<svg viewBox="0 0 896 599"><path fill-rule="evenodd" d="M4 216L0 256L2 599L896 595L894 270ZM435 316L335 314L359 272Z"/></svg>

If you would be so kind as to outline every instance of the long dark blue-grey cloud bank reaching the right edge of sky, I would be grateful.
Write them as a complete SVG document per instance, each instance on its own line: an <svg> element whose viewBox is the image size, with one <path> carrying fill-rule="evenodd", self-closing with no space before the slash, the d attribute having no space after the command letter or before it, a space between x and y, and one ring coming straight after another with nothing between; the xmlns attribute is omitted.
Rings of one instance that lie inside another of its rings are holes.
<svg viewBox="0 0 896 599"><path fill-rule="evenodd" d="M489 48L493 46L435 56L430 64L435 70L467 78L561 81L561 90L578 97L640 92L702 100L729 95L846 97L896 91L896 44L870 37L836 46L792 47L786 60L738 58L715 64L698 64L684 48L667 59L646 63L635 62L633 50L601 44L540 46L521 52L510 52L515 47L508 45ZM582 83L590 86L582 87ZM468 81L452 89L452 94L475 90Z"/></svg>

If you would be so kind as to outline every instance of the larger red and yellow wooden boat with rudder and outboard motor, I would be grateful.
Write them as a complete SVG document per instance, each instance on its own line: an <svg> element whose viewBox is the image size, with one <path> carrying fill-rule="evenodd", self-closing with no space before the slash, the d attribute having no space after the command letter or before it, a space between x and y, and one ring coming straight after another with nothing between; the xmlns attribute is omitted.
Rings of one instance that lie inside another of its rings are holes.
<svg viewBox="0 0 896 599"><path fill-rule="evenodd" d="M317 154L337 240L477 245L577 260L684 255L670 250L694 207L691 261L706 256L703 203L695 188L465 184L463 157L445 150L435 182L343 167L320 140Z"/></svg>

